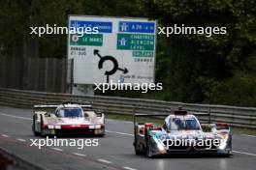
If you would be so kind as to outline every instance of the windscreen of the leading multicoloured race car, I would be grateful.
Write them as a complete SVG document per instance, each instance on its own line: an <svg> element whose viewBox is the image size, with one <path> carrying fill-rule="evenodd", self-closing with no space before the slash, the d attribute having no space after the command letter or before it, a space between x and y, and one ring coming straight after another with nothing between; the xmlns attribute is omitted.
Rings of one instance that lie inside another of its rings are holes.
<svg viewBox="0 0 256 170"><path fill-rule="evenodd" d="M170 119L169 130L198 130L200 125L194 118L173 118Z"/></svg>

